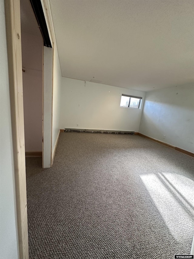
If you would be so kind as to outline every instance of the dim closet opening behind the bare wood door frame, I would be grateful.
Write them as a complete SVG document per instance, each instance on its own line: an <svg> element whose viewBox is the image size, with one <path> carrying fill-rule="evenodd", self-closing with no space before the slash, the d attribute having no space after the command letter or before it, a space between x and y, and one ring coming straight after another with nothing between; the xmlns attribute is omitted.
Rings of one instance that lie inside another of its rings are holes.
<svg viewBox="0 0 194 259"><path fill-rule="evenodd" d="M42 156L43 45L29 0L20 0L25 156Z"/></svg>

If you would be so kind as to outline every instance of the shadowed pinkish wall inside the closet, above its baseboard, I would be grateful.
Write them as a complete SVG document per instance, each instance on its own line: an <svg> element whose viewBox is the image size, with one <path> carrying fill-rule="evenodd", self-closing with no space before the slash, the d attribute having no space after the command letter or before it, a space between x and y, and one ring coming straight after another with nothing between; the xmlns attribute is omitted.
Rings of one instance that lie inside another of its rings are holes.
<svg viewBox="0 0 194 259"><path fill-rule="evenodd" d="M21 21L22 26L22 21ZM22 31L23 32L23 31ZM42 151L43 39L22 33L25 151Z"/></svg>

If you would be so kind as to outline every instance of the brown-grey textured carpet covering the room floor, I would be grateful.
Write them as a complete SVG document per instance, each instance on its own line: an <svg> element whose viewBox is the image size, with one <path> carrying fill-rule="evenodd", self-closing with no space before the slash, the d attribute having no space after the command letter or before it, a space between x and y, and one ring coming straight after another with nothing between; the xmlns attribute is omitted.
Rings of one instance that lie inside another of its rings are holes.
<svg viewBox="0 0 194 259"><path fill-rule="evenodd" d="M60 133L41 165L26 159L30 258L190 253L193 158L138 135Z"/></svg>

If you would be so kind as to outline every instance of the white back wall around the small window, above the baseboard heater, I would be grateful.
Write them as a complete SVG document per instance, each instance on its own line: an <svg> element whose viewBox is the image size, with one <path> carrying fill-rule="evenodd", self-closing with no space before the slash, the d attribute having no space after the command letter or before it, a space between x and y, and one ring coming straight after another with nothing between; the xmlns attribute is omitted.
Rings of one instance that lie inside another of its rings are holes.
<svg viewBox="0 0 194 259"><path fill-rule="evenodd" d="M60 127L138 132L142 108L120 107L122 94L143 107L145 92L62 77Z"/></svg>

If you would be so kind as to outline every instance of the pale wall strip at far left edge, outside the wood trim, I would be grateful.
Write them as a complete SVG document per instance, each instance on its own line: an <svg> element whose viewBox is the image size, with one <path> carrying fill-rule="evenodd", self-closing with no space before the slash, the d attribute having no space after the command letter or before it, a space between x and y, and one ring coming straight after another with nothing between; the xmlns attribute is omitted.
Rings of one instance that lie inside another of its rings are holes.
<svg viewBox="0 0 194 259"><path fill-rule="evenodd" d="M17 259L15 179L4 1L0 1L0 258Z"/></svg>

